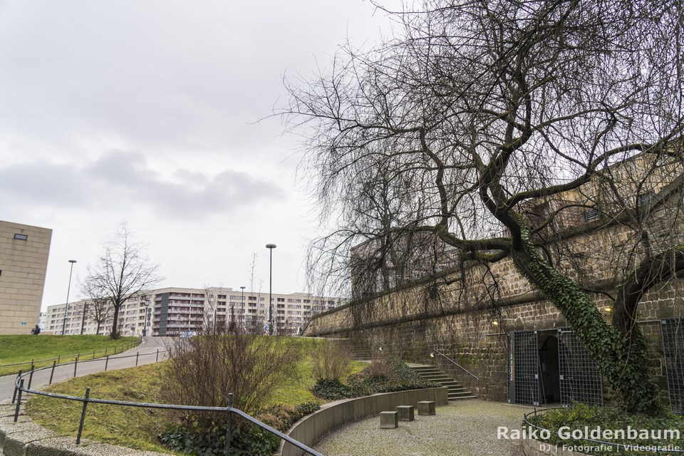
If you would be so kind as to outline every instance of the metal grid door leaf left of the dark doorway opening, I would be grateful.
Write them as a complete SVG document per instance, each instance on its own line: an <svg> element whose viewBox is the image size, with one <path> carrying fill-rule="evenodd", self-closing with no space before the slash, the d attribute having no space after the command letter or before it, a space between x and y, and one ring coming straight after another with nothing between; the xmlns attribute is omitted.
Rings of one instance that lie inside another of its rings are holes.
<svg viewBox="0 0 684 456"><path fill-rule="evenodd" d="M509 341L509 402L539 405L537 331L514 331Z"/></svg>

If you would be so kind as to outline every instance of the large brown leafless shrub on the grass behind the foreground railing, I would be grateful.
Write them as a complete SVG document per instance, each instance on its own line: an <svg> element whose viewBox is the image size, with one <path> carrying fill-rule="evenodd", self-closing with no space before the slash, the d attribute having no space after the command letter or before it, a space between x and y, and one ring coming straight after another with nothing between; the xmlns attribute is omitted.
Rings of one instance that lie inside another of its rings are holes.
<svg viewBox="0 0 684 456"><path fill-rule="evenodd" d="M175 338L170 346L163 395L170 403L233 407L254 415L278 385L296 377L298 344L276 337L206 331Z"/></svg>

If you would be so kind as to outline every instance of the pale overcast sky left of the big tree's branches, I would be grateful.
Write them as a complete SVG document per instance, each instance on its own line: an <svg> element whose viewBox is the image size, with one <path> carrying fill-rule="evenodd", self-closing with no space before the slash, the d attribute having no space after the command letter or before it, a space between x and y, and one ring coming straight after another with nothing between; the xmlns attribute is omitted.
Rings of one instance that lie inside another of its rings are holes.
<svg viewBox="0 0 684 456"><path fill-rule="evenodd" d="M162 286L249 288L257 253L267 291L272 242L274 292L307 291L296 138L254 122L389 24L361 0L1 1L0 219L53 229L43 309L123 222Z"/></svg>

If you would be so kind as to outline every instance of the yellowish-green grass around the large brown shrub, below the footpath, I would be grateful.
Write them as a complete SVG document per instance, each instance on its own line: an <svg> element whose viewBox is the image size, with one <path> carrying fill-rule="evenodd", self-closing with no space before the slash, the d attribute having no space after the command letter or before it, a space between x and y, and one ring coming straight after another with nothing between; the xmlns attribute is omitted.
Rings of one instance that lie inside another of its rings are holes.
<svg viewBox="0 0 684 456"><path fill-rule="evenodd" d="M291 341L291 342L290 342ZM289 343L301 344L305 356L299 363L299 379L291 378L274 391L269 405L284 403L298 405L307 402L321 402L311 393L316 380L311 375L311 348L318 341L290 338ZM353 361L353 372L368 367L366 363ZM83 396L90 388L90 398L129 400L134 402L161 402L160 378L165 362L140 366L138 368L108 371L74 378L52 385L51 393ZM35 396L26 405L26 411L36 423L67 435L76 436L81 419L82 403ZM172 418L162 410L120 407L115 405L89 404L83 438L100 442L124 445L138 450L169 452L162 447L157 436Z"/></svg>

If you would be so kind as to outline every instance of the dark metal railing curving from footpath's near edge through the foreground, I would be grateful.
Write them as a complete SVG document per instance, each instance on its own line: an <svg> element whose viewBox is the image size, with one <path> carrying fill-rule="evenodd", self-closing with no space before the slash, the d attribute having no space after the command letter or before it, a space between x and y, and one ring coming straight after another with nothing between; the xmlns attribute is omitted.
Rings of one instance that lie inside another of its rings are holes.
<svg viewBox="0 0 684 456"><path fill-rule="evenodd" d="M115 358L107 357L107 363L109 362L110 359L123 359L123 358L131 358L131 357L135 356L135 366L138 366L139 356L146 356L146 355L156 355L157 361L159 361L159 350L157 350L156 353L143 353L142 355L140 355L140 353L136 353L135 355L118 356ZM88 360L88 361L83 361L83 362L88 363L91 361L101 361L101 360L100 359ZM62 366L67 366L68 364L71 364L71 363L64 363ZM74 377L76 377L76 367L78 365L78 361L75 361L73 364L74 364L74 368L73 368ZM276 430L273 427L266 425L266 423L261 423L261 421L257 420L257 418L254 418L251 415L244 413L242 410L234 408L232 406L232 398L233 398L232 393L229 393L229 395L228 395L228 407L200 407L200 406L193 406L193 405L136 403L136 402L128 402L125 400L105 400L105 399L90 398L90 388L86 388L86 393L85 393L85 395L83 395L82 398L79 396L46 393L45 391L41 391L41 390L32 390L31 389L31 379L33 378L33 373L37 372L37 371L43 371L46 369L50 369L50 368L52 369L52 373L50 375L50 383L52 383L55 364L53 364L53 366L47 366L44 368L33 369L33 370L31 370L30 373L21 373L20 372L19 375L16 376L16 380L14 381L14 396L12 398L12 403L13 404L16 403L16 408L14 410L14 422L15 423L17 420L19 420L19 410L21 408L21 396L24 393L43 395L43 396L47 396L48 398L58 398L58 399L63 399L63 400L76 400L76 401L83 403L83 409L81 410L81 422L78 425L78 433L76 435L76 444L77 445L81 443L81 435L83 434L83 425L84 425L85 420L86 420L86 411L88 410L88 404L90 404L90 403L120 405L120 406L124 406L124 407L158 408L158 409L165 409L165 410L190 410L190 411L194 411L194 412L219 412L219 413L225 413L226 414L226 456L229 456L230 455L231 421L232 421L232 414L235 413L236 415L241 416L242 418L249 421L250 423L261 427L261 429L264 429L268 432L271 432L271 434L276 435L276 437L279 437L281 440L285 440L286 442L291 443L291 445L298 447L300 450L304 450L304 452L307 452L310 455L323 456L321 453L317 452L316 450L313 450L312 448L304 445L303 443L301 443L297 440L294 440L292 437L289 437L289 435L285 435L284 433L280 432L279 430ZM105 364L105 371L106 370L107 370L107 364ZM26 375L28 375L28 386L25 388L24 387L24 380L25 380L24 377L26 377Z"/></svg>

